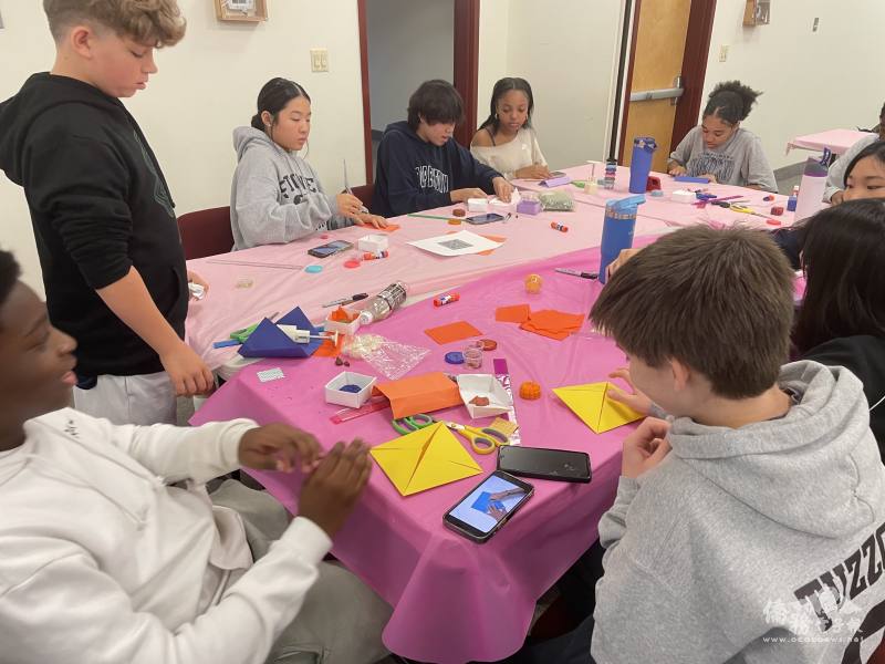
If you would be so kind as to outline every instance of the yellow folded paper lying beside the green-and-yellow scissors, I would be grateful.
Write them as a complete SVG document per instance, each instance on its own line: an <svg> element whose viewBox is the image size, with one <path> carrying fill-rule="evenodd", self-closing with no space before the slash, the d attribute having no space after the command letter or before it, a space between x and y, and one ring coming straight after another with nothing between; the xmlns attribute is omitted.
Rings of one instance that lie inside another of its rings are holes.
<svg viewBox="0 0 885 664"><path fill-rule="evenodd" d="M482 473L441 422L382 443L371 454L403 496Z"/></svg>

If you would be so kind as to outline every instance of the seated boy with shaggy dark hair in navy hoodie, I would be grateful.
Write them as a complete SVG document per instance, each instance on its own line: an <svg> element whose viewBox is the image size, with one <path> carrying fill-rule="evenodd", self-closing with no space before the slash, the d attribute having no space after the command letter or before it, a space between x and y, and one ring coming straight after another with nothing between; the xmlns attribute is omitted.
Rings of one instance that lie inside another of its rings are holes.
<svg viewBox="0 0 885 664"><path fill-rule="evenodd" d="M408 121L387 125L378 145L372 209L396 217L486 198L509 201L513 186L452 139L464 120L461 95L446 81L425 81L408 100Z"/></svg>

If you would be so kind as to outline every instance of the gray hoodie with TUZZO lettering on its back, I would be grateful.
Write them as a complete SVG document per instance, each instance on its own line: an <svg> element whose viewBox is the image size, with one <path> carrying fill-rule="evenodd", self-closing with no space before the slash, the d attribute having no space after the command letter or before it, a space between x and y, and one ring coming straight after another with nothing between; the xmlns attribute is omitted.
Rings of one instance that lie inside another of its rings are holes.
<svg viewBox="0 0 885 664"><path fill-rule="evenodd" d="M677 418L664 461L621 478L600 521L598 664L853 663L852 637L885 624L885 468L863 386L809 361L780 384L796 395L785 416Z"/></svg>

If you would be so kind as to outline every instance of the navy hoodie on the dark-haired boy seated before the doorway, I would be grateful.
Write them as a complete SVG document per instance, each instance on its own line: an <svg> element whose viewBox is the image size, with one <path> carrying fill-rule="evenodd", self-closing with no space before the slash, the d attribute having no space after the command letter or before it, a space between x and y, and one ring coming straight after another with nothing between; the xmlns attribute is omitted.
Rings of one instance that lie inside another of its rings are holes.
<svg viewBox="0 0 885 664"><path fill-rule="evenodd" d="M450 138L436 146L420 138L407 122L387 125L378 146L372 211L396 217L451 205L450 191L479 187L493 194L501 174L480 164L470 151Z"/></svg>

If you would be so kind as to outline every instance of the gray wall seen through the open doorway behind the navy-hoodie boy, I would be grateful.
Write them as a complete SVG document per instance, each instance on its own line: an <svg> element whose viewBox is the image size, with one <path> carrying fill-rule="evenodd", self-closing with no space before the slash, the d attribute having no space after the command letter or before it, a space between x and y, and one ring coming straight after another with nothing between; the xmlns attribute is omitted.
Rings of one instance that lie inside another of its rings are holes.
<svg viewBox="0 0 885 664"><path fill-rule="evenodd" d="M408 97L424 81L451 82L454 0L369 0L368 80L372 128L406 120Z"/></svg>

